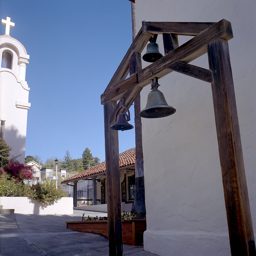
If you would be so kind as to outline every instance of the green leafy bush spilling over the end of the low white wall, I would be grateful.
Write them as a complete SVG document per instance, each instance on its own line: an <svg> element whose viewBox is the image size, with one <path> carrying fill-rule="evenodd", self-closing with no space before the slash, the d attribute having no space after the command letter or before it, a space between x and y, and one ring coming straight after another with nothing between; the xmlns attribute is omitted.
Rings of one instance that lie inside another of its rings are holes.
<svg viewBox="0 0 256 256"><path fill-rule="evenodd" d="M43 204L57 202L60 198L66 197L63 190L56 189L56 185L46 180L45 183L37 183L31 186L28 198L32 201L37 200Z"/></svg>

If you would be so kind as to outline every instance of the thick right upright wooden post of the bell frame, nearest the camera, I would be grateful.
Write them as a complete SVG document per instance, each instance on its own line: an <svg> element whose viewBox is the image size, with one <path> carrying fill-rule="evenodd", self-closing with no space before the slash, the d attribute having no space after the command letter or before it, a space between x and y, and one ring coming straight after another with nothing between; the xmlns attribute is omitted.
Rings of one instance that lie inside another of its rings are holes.
<svg viewBox="0 0 256 256"><path fill-rule="evenodd" d="M228 42L220 38L207 50L231 254L255 256Z"/></svg>

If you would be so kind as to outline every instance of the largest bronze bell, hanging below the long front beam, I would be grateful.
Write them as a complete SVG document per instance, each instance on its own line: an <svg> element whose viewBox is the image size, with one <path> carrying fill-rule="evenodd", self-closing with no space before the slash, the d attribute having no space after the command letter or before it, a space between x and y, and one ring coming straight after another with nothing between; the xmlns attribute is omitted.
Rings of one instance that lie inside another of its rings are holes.
<svg viewBox="0 0 256 256"><path fill-rule="evenodd" d="M176 109L167 104L164 94L158 90L159 84L157 80L156 83L151 83L151 86L152 91L148 94L146 108L140 111L140 116L144 118L159 118L174 114Z"/></svg>

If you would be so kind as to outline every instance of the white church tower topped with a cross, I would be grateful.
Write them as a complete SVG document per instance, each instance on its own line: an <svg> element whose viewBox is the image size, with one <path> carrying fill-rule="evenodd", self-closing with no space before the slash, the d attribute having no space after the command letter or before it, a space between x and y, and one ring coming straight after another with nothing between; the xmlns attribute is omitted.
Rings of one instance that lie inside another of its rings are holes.
<svg viewBox="0 0 256 256"><path fill-rule="evenodd" d="M0 36L0 138L12 147L11 156L24 163L27 114L30 88L25 81L29 55L24 46L9 35L14 26L10 18L2 19L5 34Z"/></svg>

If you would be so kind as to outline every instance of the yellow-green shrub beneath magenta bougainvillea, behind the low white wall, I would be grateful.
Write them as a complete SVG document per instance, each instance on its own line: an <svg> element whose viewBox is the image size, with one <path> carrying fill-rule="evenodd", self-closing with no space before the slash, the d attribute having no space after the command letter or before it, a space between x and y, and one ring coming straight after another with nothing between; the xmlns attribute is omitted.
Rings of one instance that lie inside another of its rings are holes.
<svg viewBox="0 0 256 256"><path fill-rule="evenodd" d="M16 180L7 174L1 174L0 196L27 196L30 186Z"/></svg>

